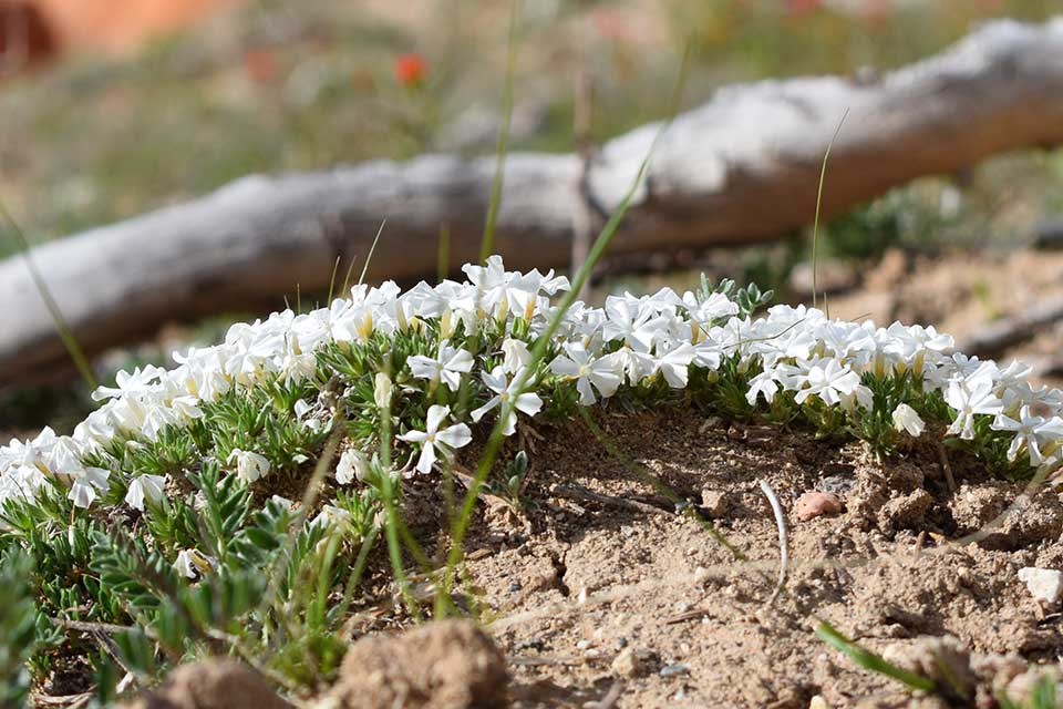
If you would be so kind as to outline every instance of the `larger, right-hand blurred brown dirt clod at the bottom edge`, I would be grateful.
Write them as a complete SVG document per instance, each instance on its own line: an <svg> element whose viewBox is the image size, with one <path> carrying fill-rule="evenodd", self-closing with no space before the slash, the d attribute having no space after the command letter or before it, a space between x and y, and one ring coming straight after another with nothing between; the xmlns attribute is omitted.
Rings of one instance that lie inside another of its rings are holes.
<svg viewBox="0 0 1063 709"><path fill-rule="evenodd" d="M441 620L400 636L370 636L343 658L327 702L345 709L504 706L506 660L475 624Z"/></svg>

